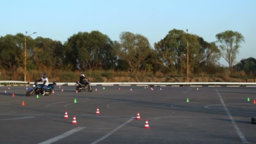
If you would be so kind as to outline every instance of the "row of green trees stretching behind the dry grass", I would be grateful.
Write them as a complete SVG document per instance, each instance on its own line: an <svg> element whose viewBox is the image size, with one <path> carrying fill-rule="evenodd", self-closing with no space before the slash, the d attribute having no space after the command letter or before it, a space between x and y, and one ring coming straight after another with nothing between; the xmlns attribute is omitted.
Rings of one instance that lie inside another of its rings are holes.
<svg viewBox="0 0 256 144"><path fill-rule="evenodd" d="M0 68L14 70L24 66L24 35L0 37ZM187 37L189 39L189 69L194 74L221 71L222 56L230 71L244 37L225 31L216 35L216 42L207 42L198 35L172 29L151 47L147 37L122 32L119 41L111 40L99 31L78 32L62 44L50 38L27 37L28 69L120 70L183 74L186 72ZM238 69L238 68L236 68Z"/></svg>

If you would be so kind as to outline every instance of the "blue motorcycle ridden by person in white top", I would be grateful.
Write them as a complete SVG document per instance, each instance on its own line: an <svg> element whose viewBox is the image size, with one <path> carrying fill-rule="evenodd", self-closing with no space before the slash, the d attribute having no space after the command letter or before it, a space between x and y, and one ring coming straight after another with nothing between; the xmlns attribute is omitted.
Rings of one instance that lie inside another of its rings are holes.
<svg viewBox="0 0 256 144"><path fill-rule="evenodd" d="M45 88L45 96L49 96L49 95L52 93L52 91L53 91L55 85L56 85L56 83L53 82L53 83L50 83L50 84ZM39 95L43 94L43 84L38 85L38 82L35 81L35 83L34 83L34 85L32 86L32 88L29 88L29 89L27 90L26 96L30 96L30 95L32 95L32 94L35 94L35 95L37 95L37 94L39 94Z"/></svg>

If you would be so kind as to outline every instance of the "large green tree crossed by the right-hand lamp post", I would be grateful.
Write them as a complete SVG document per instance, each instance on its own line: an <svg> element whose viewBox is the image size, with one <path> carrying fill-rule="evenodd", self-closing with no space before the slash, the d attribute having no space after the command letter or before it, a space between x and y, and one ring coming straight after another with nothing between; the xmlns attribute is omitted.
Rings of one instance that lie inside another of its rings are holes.
<svg viewBox="0 0 256 144"><path fill-rule="evenodd" d="M193 71L198 67L200 59L200 43L196 35L189 37L189 69ZM173 29L168 32L164 39L155 43L155 49L163 66L171 72L184 73L187 68L187 33L183 30Z"/></svg>

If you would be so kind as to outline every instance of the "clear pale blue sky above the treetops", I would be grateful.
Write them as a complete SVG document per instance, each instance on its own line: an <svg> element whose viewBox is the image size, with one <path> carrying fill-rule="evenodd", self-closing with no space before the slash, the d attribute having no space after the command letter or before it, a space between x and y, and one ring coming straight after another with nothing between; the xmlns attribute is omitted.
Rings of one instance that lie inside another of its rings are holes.
<svg viewBox="0 0 256 144"><path fill-rule="evenodd" d="M153 44L169 30L189 29L206 41L225 30L245 37L237 61L256 58L256 0L3 0L0 36L37 32L32 37L67 41L82 31L99 30L112 40L123 31ZM227 65L223 59L221 64Z"/></svg>

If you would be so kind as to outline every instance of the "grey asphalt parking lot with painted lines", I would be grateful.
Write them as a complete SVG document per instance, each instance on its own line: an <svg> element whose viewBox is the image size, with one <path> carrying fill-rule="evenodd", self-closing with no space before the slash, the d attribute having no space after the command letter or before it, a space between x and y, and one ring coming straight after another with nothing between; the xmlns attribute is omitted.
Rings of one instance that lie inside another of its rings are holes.
<svg viewBox="0 0 256 144"><path fill-rule="evenodd" d="M256 143L256 88L93 86L91 93L75 93L75 86L56 86L39 98L26 91L0 87L2 144ZM77 125L71 124L74 115Z"/></svg>

